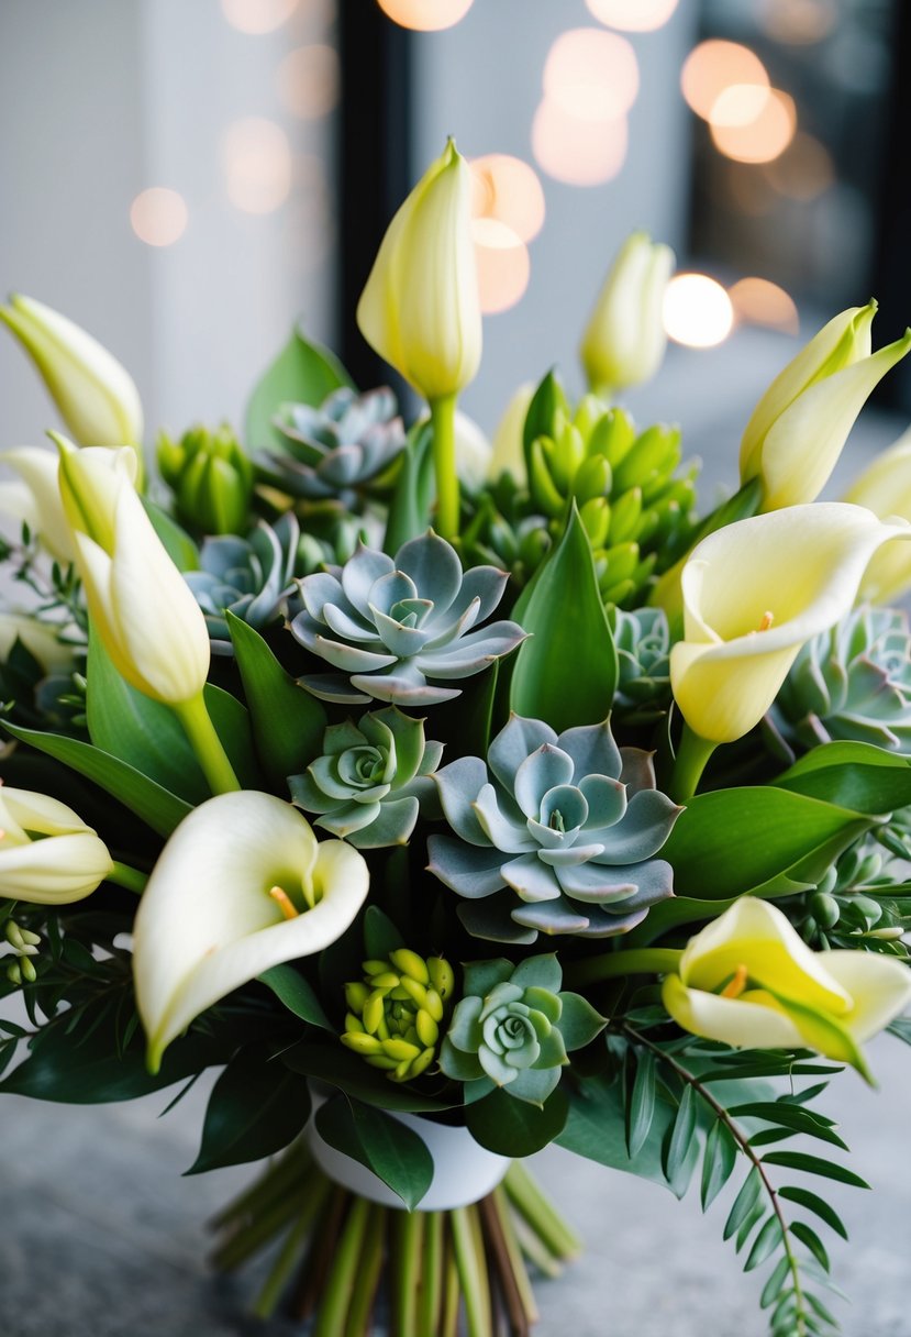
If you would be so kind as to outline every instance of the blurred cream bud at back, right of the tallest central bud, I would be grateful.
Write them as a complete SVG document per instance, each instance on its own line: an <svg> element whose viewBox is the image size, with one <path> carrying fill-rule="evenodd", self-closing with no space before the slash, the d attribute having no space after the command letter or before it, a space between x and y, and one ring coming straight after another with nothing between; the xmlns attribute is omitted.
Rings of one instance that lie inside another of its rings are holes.
<svg viewBox="0 0 911 1337"><path fill-rule="evenodd" d="M647 233L620 247L592 312L580 348L589 389L604 398L648 381L667 346L664 293L673 251Z"/></svg>

